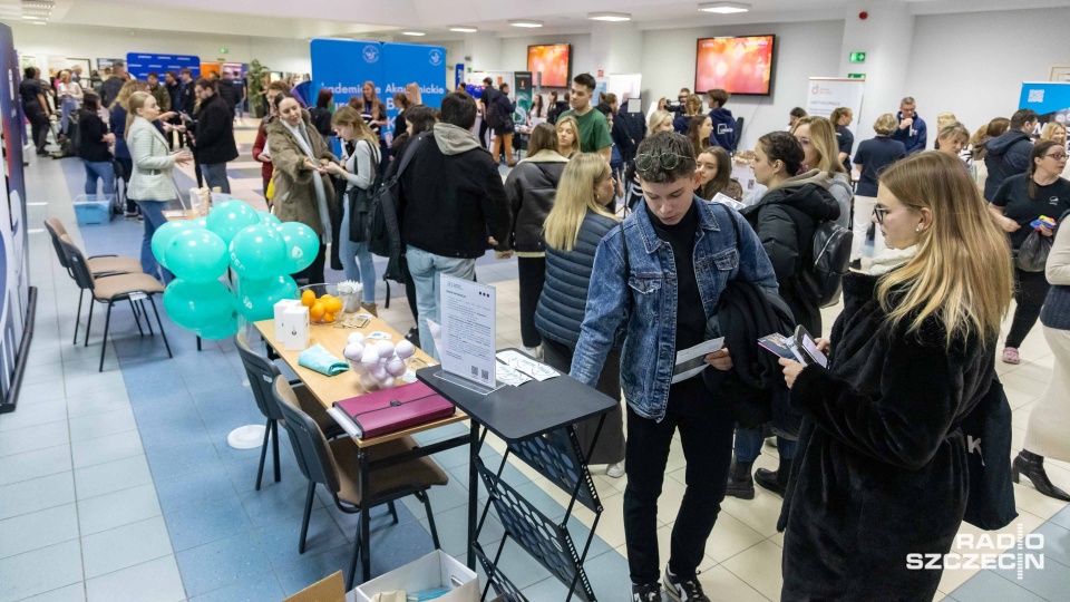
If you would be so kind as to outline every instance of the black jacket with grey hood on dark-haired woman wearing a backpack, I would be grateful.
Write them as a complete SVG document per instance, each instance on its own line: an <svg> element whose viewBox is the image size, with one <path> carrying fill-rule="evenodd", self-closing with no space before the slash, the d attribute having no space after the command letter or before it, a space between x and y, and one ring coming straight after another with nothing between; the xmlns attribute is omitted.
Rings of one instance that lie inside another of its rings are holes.
<svg viewBox="0 0 1070 602"><path fill-rule="evenodd" d="M810 241L818 224L839 217L839 204L828 192L831 181L817 169L789 178L741 214L761 240L772 262L784 298L795 321L814 337L821 333L820 308L799 288L799 274L810 259Z"/></svg>

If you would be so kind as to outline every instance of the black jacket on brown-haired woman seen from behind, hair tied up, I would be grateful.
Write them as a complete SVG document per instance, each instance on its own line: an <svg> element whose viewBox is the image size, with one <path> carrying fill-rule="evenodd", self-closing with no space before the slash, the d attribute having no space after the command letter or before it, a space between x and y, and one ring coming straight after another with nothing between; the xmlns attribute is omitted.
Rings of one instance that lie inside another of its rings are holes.
<svg viewBox="0 0 1070 602"><path fill-rule="evenodd" d="M539 151L516 164L505 181L513 208L509 245L522 253L542 253L543 224L554 206L557 183L568 159L556 151Z"/></svg>

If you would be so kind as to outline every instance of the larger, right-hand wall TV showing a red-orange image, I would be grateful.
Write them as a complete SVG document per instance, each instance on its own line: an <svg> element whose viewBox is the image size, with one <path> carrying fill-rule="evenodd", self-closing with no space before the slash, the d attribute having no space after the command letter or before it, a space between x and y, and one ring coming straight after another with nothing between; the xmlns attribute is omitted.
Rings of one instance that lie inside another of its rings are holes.
<svg viewBox="0 0 1070 602"><path fill-rule="evenodd" d="M772 81L774 36L700 38L694 89L768 96Z"/></svg>

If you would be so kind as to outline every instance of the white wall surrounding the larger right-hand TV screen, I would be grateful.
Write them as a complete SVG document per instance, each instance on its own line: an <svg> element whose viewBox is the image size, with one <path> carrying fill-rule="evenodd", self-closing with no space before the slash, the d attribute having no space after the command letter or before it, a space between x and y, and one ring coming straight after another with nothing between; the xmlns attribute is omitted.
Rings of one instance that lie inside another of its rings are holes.
<svg viewBox="0 0 1070 602"><path fill-rule="evenodd" d="M788 125L792 107L806 105L809 77L837 75L843 21L648 30L643 39L643 104L649 106L662 96L675 98L682 87L694 88L699 38L768 33L777 37L772 95L735 96L727 105L732 115L745 118L739 149L753 148L763 134Z"/></svg>

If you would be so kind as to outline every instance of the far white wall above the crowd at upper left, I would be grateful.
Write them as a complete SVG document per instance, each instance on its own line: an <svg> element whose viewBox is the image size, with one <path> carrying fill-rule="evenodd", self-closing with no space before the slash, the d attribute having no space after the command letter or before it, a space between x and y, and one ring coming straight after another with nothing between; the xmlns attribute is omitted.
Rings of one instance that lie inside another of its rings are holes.
<svg viewBox="0 0 1070 602"><path fill-rule="evenodd" d="M309 42L303 39L226 37L174 31L128 30L85 26L47 27L12 22L14 48L21 55L71 58L126 58L127 52L194 55L206 62L221 56L230 62L260 61L274 71L311 72ZM230 50L220 55L220 48Z"/></svg>

